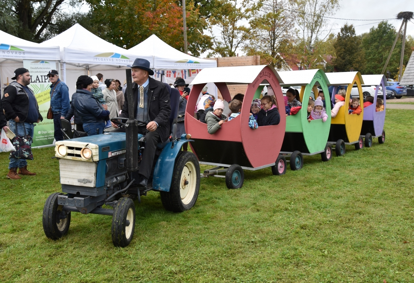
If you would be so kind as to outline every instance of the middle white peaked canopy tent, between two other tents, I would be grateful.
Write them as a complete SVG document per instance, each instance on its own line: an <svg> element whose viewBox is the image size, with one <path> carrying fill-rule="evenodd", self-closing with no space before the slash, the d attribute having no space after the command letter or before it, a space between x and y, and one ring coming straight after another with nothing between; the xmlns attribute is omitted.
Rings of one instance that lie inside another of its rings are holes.
<svg viewBox="0 0 414 283"><path fill-rule="evenodd" d="M60 79L69 87L70 95L76 91L75 84L80 75L101 73L104 80L119 79L122 84L125 80L126 66L131 65L135 58L139 57L99 38L80 24L73 25L40 45L60 46Z"/></svg>

